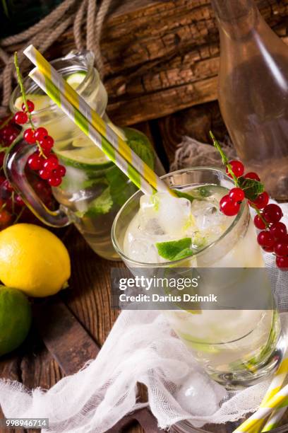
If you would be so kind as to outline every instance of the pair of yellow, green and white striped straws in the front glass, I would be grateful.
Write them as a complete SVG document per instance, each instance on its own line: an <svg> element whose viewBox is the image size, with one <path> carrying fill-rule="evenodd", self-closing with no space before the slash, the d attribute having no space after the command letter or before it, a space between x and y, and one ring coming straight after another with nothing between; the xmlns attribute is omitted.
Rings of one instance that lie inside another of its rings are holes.
<svg viewBox="0 0 288 433"><path fill-rule="evenodd" d="M63 79L63 77L52 67L49 62L29 45L24 54L38 70L33 70L29 75L42 90L52 98L54 103L66 112L73 122L97 144L126 175L145 194L155 191L170 192L173 190L161 180L151 168L132 151L114 130L104 122L100 115L95 112L85 100ZM41 76L42 75L42 76ZM95 133L97 132L97 134ZM101 139L101 140L100 140Z"/></svg>

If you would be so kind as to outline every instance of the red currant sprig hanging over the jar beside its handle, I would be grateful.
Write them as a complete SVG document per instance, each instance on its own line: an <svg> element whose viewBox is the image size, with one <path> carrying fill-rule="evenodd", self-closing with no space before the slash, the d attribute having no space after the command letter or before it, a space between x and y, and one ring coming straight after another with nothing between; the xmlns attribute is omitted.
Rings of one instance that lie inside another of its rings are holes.
<svg viewBox="0 0 288 433"><path fill-rule="evenodd" d="M29 112L34 110L34 104L31 100L27 100L27 106ZM25 104L22 105L22 111L16 112L14 120L18 125L24 125L30 120ZM66 168L61 166L57 156L52 154L54 139L49 136L47 129L44 127L35 129L31 120L30 123L31 127L25 129L23 138L28 144L37 144L38 150L28 159L28 166L31 170L38 171L40 178L47 180L50 186L57 187L62 182Z"/></svg>

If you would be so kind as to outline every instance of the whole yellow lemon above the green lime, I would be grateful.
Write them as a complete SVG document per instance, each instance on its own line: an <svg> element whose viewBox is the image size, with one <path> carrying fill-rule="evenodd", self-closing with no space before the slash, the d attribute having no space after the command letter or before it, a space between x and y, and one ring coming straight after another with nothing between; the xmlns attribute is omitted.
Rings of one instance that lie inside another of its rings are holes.
<svg viewBox="0 0 288 433"><path fill-rule="evenodd" d="M50 296L71 275L68 251L51 231L16 224L0 232L0 280L28 296Z"/></svg>

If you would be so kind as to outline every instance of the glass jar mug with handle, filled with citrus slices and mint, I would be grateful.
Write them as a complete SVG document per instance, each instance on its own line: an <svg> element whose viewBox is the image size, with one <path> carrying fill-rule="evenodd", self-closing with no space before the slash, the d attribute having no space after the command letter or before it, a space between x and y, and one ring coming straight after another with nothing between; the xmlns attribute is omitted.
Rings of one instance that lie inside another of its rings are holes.
<svg viewBox="0 0 288 433"><path fill-rule="evenodd" d="M107 117L107 92L93 63L91 52L71 52L52 62L68 83L122 139L157 173L163 174L162 165L148 137L136 129L120 129ZM121 205L136 192L136 186L31 79L25 79L24 86L28 99L35 104L33 124L35 127L47 128L55 141L53 151L66 168L61 185L52 188L53 195L60 204L59 209L49 210L30 185L25 167L29 156L35 152L35 146L24 140L16 140L6 157L8 180L44 224L62 227L72 222L95 253L109 260L117 260L119 256L112 246L110 236L112 223ZM11 111L18 111L22 102L20 88L17 87L11 96Z"/></svg>

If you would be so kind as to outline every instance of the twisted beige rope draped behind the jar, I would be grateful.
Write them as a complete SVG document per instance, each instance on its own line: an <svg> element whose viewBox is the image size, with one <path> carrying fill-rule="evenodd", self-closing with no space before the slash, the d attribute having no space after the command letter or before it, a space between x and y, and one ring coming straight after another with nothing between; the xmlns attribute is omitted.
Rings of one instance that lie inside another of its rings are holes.
<svg viewBox="0 0 288 433"><path fill-rule="evenodd" d="M2 107L6 108L11 96L13 84L13 45L23 47L33 44L41 52L45 52L73 24L73 39L77 50L91 50L95 54L95 63L100 76L104 74L104 65L100 52L100 37L104 18L107 16L112 0L64 0L54 11L42 18L18 35L8 36L0 41L0 59L4 63L4 71L0 75L2 88ZM86 13L85 13L86 11ZM81 30L86 26L86 40L83 42ZM26 61L23 52L18 54L19 64Z"/></svg>

